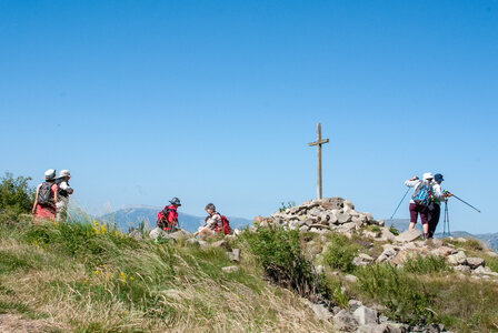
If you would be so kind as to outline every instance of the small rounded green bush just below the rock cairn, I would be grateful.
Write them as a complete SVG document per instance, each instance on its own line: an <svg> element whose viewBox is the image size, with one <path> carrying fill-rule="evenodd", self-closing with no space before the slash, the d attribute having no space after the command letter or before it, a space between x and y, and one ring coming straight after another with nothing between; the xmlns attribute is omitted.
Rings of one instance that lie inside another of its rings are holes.
<svg viewBox="0 0 498 333"><path fill-rule="evenodd" d="M323 261L332 269L350 273L355 270L352 260L358 252L358 246L351 244L347 236L333 233L327 243Z"/></svg>

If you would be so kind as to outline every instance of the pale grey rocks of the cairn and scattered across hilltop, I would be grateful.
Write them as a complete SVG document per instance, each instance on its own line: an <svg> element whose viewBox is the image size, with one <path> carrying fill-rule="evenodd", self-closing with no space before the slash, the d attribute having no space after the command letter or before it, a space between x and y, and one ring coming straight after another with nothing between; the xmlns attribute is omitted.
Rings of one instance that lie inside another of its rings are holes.
<svg viewBox="0 0 498 333"><path fill-rule="evenodd" d="M471 279L484 279L498 282L498 273L492 272L486 266L482 258L467 256L462 249L458 249L447 240L422 240L422 235L417 230L408 230L399 233L385 225L384 221L375 220L368 212L357 212L352 202L341 198L327 198L323 200L311 200L299 206L292 206L285 211L278 211L269 218L257 216L255 225L250 228L256 231L258 228L269 228L271 225L280 225L288 230L299 230L302 233L318 233L325 235L327 233L337 232L351 239L353 234L359 234L371 244L379 243L382 251L372 256L368 253L359 253L353 264L357 266L371 265L375 263L387 262L395 266L402 266L410 258L416 256L439 256L454 266L454 269L462 275L470 275ZM237 238L240 231L235 230L232 235ZM140 238L140 233L135 234ZM156 239L159 235L163 239L178 241L187 239L191 244L208 246L208 242L192 238L190 233L178 231L166 234L159 229L152 230L150 236ZM467 239L456 239L457 242L467 242ZM312 240L310 242L313 242ZM227 250L227 255L235 262L240 261L240 250L231 249L226 240L210 244L210 246L220 246ZM325 244L321 252L325 252ZM320 252L315 253L320 255ZM498 256L492 251L488 251L487 255ZM223 268L226 272L237 271L238 266ZM322 272L323 266L317 265L317 272ZM356 281L356 276L346 275L346 280ZM441 324L430 324L428 326L410 326L404 323L389 321L381 314L382 306L366 306L358 300L350 300L348 309L335 306L327 309L322 304L315 304L305 301L312 309L315 314L326 321L332 321L335 327L341 332L446 332ZM380 310L380 311L378 311Z"/></svg>

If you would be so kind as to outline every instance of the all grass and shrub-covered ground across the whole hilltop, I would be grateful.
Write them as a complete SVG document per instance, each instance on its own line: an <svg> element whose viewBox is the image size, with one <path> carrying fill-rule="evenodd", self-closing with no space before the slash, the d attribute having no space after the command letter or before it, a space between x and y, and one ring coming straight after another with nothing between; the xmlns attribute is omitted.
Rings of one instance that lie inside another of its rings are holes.
<svg viewBox="0 0 498 333"><path fill-rule="evenodd" d="M242 250L235 273L222 271L233 265L222 248L136 241L91 221L3 222L0 331L332 331L305 297L330 310L360 300L411 325L498 331L498 283L462 275L438 258L412 259L398 269L358 268L355 255L375 255L380 244L359 235L281 229L245 231L228 242ZM452 245L484 256L498 271L498 260L486 256L479 243ZM322 274L315 271L319 264Z"/></svg>

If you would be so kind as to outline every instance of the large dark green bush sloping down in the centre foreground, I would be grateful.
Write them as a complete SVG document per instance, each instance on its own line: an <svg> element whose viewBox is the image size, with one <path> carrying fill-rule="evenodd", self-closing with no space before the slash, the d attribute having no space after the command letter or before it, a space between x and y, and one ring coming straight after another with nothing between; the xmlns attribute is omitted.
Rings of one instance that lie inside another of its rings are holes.
<svg viewBox="0 0 498 333"><path fill-rule="evenodd" d="M245 232L242 236L273 282L297 291L301 296L329 299L320 275L315 273L312 263L301 252L297 230L262 228L258 232Z"/></svg>

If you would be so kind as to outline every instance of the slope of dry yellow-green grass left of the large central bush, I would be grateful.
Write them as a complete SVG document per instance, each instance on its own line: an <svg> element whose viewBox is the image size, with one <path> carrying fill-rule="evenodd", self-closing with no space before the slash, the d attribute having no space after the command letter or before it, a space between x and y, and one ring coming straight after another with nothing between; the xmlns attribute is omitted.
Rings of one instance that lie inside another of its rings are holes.
<svg viewBox="0 0 498 333"><path fill-rule="evenodd" d="M136 241L84 221L38 226L2 223L0 329L330 330L330 323L315 320L296 294L268 284L249 252L240 271L223 273L221 268L231 264L222 249ZM6 326L9 322L12 325Z"/></svg>

